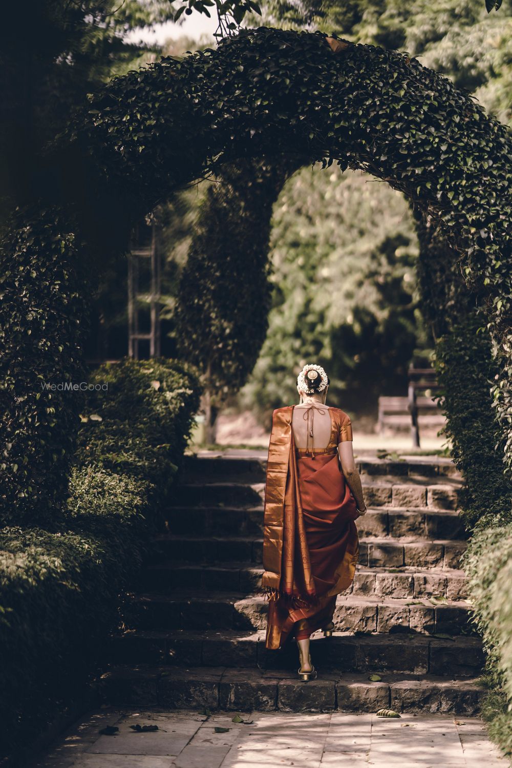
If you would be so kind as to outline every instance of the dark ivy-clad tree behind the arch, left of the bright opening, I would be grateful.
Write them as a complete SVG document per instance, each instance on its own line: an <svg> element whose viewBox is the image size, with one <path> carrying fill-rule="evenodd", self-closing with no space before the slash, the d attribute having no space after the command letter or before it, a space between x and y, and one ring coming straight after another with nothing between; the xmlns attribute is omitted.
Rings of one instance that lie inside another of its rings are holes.
<svg viewBox="0 0 512 768"><path fill-rule="evenodd" d="M270 215L292 167L271 158L224 167L200 209L174 320L178 349L203 373L208 442L220 404L246 382L265 339Z"/></svg>

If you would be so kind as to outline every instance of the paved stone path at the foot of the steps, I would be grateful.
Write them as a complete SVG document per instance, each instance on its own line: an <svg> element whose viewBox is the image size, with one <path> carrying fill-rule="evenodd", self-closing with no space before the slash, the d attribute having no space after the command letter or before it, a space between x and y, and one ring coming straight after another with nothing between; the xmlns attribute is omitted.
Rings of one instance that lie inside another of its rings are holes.
<svg viewBox="0 0 512 768"><path fill-rule="evenodd" d="M37 768L508 768L479 717L370 713L101 710L72 727ZM136 733L131 724L155 724ZM107 725L115 736L101 736ZM216 733L215 728L228 728ZM36 766L32 766L36 768Z"/></svg>

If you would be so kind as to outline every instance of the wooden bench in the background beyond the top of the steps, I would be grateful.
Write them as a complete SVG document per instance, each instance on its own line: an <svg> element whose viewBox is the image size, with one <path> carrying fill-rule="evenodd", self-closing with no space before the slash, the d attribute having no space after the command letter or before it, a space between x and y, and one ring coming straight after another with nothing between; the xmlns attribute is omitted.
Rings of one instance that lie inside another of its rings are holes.
<svg viewBox="0 0 512 768"><path fill-rule="evenodd" d="M386 426L404 427L410 425L412 444L420 448L418 416L424 425L441 425L444 417L438 402L430 395L418 395L418 392L439 389L436 374L432 368L409 368L408 395L402 397L379 397L378 433L382 435ZM421 414L420 414L421 411ZM432 418L430 418L432 417Z"/></svg>

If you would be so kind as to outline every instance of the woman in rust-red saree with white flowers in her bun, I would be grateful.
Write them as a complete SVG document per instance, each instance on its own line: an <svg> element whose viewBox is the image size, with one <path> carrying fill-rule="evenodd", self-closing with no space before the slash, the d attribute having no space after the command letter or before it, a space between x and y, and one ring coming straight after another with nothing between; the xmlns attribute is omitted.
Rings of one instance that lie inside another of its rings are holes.
<svg viewBox="0 0 512 768"><path fill-rule="evenodd" d="M300 401L273 412L266 468L263 589L269 597L266 647L299 646L302 680L316 677L309 636L332 635L336 595L352 583L367 511L348 415L325 405L329 378L306 365ZM340 464L342 472L340 472Z"/></svg>

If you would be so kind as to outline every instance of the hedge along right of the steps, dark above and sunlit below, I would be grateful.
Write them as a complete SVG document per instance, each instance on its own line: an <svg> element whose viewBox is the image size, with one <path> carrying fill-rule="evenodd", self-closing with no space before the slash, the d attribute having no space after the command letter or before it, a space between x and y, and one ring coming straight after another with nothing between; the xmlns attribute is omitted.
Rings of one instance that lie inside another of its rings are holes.
<svg viewBox="0 0 512 768"><path fill-rule="evenodd" d="M474 314L438 339L435 365L450 414L444 432L464 477L461 517L471 537L461 567L471 621L486 652L482 715L491 738L512 757L512 482L504 474L504 435L489 402L497 366Z"/></svg>

